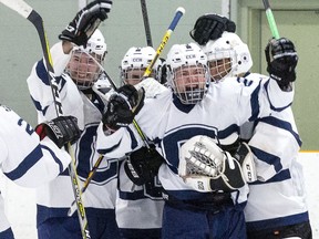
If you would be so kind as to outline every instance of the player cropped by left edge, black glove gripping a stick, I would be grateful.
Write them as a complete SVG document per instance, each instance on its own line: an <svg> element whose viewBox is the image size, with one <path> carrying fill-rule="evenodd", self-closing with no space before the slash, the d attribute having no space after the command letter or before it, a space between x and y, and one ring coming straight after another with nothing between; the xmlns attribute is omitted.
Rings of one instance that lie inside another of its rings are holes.
<svg viewBox="0 0 319 239"><path fill-rule="evenodd" d="M10 180L23 187L38 187L68 168L71 158L59 147L80 137L74 117L63 116L39 125L35 129L39 137L25 121L4 105L0 106L0 167ZM1 194L0 238L13 239Z"/></svg>

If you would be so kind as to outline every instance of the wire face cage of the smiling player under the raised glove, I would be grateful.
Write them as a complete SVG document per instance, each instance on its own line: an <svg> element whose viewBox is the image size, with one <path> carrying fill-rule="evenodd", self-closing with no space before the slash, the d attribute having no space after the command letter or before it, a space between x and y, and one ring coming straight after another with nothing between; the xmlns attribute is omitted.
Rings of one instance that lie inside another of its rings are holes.
<svg viewBox="0 0 319 239"><path fill-rule="evenodd" d="M66 72L80 90L93 86L102 73L104 55L74 50L68 63Z"/></svg>

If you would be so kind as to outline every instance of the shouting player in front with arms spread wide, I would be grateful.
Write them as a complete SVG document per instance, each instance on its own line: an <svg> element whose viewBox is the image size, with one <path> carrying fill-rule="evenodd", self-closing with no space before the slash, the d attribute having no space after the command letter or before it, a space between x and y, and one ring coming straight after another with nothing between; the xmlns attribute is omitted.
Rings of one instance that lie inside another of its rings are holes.
<svg viewBox="0 0 319 239"><path fill-rule="evenodd" d="M158 170L165 189L163 238L246 238L243 207L249 177L244 179L238 163L246 157L237 160L216 143L227 148L238 141L239 125L268 116L271 107L289 106L294 96L261 75L248 85L241 81L209 85L206 63L197 44L173 45L166 59L171 90L143 106L141 93L124 85L121 94L111 96L99 126L97 150L119 157L143 144L130 124L136 115L165 158ZM105 135L107 128L117 131Z"/></svg>

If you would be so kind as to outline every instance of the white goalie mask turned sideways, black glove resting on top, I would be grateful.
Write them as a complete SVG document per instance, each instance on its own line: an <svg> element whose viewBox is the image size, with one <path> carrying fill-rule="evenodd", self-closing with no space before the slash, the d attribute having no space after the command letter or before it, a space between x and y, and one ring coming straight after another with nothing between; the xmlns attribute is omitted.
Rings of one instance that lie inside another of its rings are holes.
<svg viewBox="0 0 319 239"><path fill-rule="evenodd" d="M214 81L244 74L253 66L247 44L233 32L224 32L219 39L208 41L203 46L203 51L207 55L210 76Z"/></svg>

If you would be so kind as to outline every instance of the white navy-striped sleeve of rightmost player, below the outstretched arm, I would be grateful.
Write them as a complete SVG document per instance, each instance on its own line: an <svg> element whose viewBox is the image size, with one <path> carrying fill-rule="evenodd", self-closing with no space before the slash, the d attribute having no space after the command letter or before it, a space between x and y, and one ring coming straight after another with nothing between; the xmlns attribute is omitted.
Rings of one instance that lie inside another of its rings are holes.
<svg viewBox="0 0 319 239"><path fill-rule="evenodd" d="M260 118L249 146L255 155L258 180L287 177L287 169L301 147L291 108Z"/></svg>

